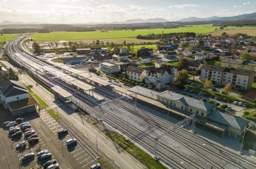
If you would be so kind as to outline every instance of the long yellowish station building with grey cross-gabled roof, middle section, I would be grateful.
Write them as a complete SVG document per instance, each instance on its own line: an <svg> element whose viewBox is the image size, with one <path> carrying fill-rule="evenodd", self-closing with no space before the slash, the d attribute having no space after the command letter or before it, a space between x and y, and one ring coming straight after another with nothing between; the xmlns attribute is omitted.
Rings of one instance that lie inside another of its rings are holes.
<svg viewBox="0 0 256 169"><path fill-rule="evenodd" d="M216 105L210 104L206 101L199 101L193 97L174 93L172 91L163 91L157 95L157 100L165 102L170 108L178 108L182 111L188 111L197 115L207 117Z"/></svg>

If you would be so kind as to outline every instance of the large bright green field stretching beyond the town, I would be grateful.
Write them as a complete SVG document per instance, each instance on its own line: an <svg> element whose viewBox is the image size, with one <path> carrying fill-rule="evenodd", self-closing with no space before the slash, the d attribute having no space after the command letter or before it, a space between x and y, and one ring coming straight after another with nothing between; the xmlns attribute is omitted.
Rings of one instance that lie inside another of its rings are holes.
<svg viewBox="0 0 256 169"><path fill-rule="evenodd" d="M137 35L148 35L148 34L169 34L175 32L195 32L197 33L208 33L215 30L212 26L197 25L190 27L180 27L173 29L144 29L144 30L122 30L122 31L108 31L108 32L50 32L44 34L33 34L30 38L34 38L35 41L58 41L58 40L71 40L71 39L105 39L105 38L118 38L119 41L127 41L129 39L134 40Z"/></svg>

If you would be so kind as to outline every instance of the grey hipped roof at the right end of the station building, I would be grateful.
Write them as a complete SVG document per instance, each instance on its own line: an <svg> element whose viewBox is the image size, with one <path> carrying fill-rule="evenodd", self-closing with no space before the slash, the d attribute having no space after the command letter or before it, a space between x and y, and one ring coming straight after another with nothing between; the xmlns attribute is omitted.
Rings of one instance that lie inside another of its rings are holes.
<svg viewBox="0 0 256 169"><path fill-rule="evenodd" d="M212 110L208 114L207 119L214 120L215 122L219 122L221 124L225 124L227 126L237 128L239 130L242 130L249 123L248 120L244 120L241 117L229 115L216 110Z"/></svg>

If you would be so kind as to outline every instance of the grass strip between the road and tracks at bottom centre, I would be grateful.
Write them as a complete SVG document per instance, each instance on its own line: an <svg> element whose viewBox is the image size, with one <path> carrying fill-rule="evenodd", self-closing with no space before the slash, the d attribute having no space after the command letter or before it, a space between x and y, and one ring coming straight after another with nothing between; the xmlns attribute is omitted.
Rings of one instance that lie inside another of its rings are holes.
<svg viewBox="0 0 256 169"><path fill-rule="evenodd" d="M125 139L125 137L119 133L111 132L109 133L108 137L147 168L167 168L161 163L158 163L155 159L148 155L148 153L144 152L144 150L138 148L132 142Z"/></svg>

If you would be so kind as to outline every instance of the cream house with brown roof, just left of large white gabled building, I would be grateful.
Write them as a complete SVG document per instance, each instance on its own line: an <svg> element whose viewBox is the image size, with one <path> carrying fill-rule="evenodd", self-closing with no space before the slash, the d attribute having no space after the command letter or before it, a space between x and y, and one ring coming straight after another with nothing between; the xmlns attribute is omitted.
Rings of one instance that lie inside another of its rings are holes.
<svg viewBox="0 0 256 169"><path fill-rule="evenodd" d="M143 82L145 78L145 69L137 68L137 67L127 67L126 73L130 80L134 80L136 82Z"/></svg>

